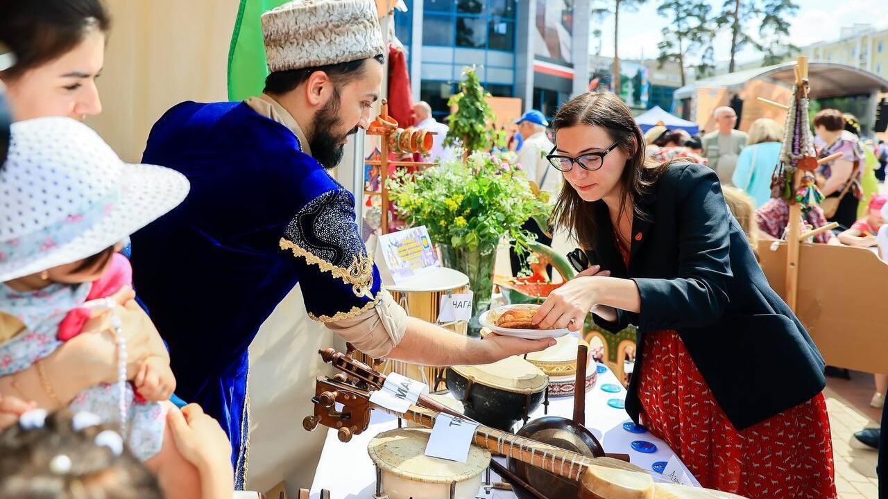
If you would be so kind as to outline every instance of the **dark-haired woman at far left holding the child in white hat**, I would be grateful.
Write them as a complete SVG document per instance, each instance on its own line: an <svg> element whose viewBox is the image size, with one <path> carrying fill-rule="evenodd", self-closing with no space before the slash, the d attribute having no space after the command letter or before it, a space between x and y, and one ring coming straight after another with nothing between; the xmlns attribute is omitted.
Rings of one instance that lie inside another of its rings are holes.
<svg viewBox="0 0 888 499"><path fill-rule="evenodd" d="M88 115L98 115L101 102L95 79L104 64L111 24L102 3L99 0L4 2L2 10L0 45L4 47L0 47L0 52L9 51L13 63L0 71L0 83L7 87L13 119L68 116L83 121ZM0 53L0 57L3 55ZM143 345L156 330L132 300L129 287L122 290L115 301L122 305L116 313L126 326L124 334L130 345L132 369L147 354ZM106 326L95 321L87 329L100 332L107 329ZM18 321L0 313L0 337L4 337L4 331L19 328ZM44 360L44 370L59 400L67 401L92 384L114 379L114 355L112 338L85 335L63 345L59 352ZM83 366L86 360L90 363ZM80 368L75 370L72 366ZM16 376L15 381L28 392L28 387L39 388L36 375L36 368L30 368ZM32 405L10 395L11 385L12 379L0 378L0 429ZM52 400L38 394L33 403L47 408Z"/></svg>

